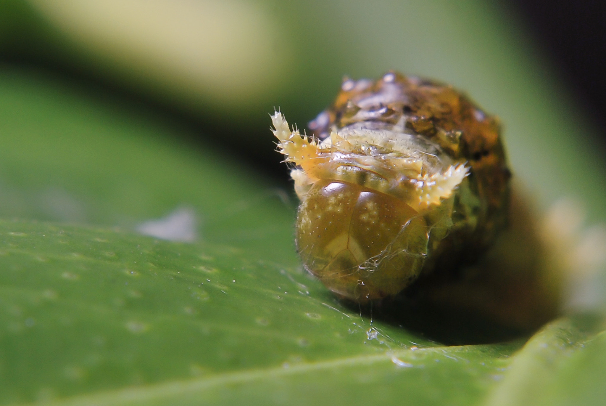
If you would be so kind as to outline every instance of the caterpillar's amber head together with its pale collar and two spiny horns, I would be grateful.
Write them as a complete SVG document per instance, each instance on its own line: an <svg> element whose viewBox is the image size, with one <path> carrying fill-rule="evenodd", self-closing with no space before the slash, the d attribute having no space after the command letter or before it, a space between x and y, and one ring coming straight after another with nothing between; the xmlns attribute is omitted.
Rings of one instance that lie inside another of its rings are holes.
<svg viewBox="0 0 606 406"><path fill-rule="evenodd" d="M356 129L317 143L280 113L272 118L281 152L298 165L291 175L305 268L358 302L393 296L416 280L430 245L450 226L467 167L415 134Z"/></svg>

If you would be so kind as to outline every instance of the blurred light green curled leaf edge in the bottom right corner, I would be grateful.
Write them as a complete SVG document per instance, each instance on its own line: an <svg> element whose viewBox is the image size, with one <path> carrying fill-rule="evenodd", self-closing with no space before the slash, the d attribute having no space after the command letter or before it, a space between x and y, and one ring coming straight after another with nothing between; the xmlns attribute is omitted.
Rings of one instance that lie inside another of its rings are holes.
<svg viewBox="0 0 606 406"><path fill-rule="evenodd" d="M604 399L606 371L604 355L599 352L604 350L604 332L587 343L596 321L592 317L565 318L545 326L516 354L487 404L599 404Z"/></svg>

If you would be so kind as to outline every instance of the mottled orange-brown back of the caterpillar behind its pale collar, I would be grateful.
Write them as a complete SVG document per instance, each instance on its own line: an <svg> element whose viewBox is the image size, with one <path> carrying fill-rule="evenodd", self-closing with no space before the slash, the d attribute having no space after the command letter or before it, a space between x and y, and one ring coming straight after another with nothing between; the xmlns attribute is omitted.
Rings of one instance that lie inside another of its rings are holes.
<svg viewBox="0 0 606 406"><path fill-rule="evenodd" d="M389 72L377 81L345 78L333 105L309 127L314 137L323 140L331 129L353 123L389 128L402 117L408 129L438 143L454 160L471 166L470 189L481 202L475 213L478 227L453 230L441 246L441 250L469 260L490 245L507 223L511 173L498 118L483 112L452 86ZM439 255L436 257L436 263L442 262ZM444 262L451 264L453 258Z"/></svg>

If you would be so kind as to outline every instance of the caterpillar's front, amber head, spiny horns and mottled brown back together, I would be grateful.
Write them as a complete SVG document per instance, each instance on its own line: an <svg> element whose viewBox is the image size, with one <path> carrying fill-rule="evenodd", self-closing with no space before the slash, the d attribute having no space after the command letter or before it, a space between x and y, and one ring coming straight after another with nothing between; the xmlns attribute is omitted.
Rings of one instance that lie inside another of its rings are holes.
<svg viewBox="0 0 606 406"><path fill-rule="evenodd" d="M295 164L299 254L338 296L382 299L448 275L507 222L498 122L450 86L395 72L345 79L310 137L271 118Z"/></svg>

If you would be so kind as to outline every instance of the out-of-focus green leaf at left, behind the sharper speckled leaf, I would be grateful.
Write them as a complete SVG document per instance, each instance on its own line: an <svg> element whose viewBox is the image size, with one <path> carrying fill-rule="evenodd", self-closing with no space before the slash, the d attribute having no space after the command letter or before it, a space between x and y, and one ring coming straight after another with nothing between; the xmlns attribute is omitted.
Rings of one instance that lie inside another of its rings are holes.
<svg viewBox="0 0 606 406"><path fill-rule="evenodd" d="M185 206L204 240L295 263L295 202L229 151L192 149L150 113L39 75L3 69L0 94L2 217L133 229Z"/></svg>

